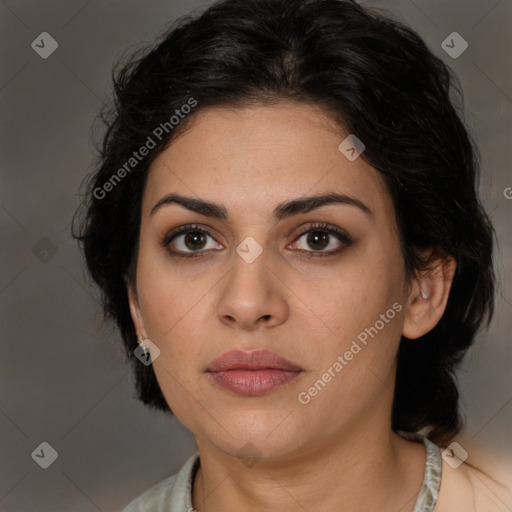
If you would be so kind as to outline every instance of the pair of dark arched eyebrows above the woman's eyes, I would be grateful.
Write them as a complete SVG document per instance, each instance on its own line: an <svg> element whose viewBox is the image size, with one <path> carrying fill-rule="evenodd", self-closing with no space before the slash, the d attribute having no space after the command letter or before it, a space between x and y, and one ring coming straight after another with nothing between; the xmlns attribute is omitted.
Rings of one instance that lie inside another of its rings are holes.
<svg viewBox="0 0 512 512"><path fill-rule="evenodd" d="M205 217L212 217L219 220L228 220L229 215L226 208L221 204L212 203L203 199L195 199L193 197L186 197L180 194L168 194L160 199L155 206L151 209L150 216L163 206L170 204L179 204L188 210L191 210ZM350 197L345 194L338 194L332 192L329 194L321 194L316 196L301 197L292 199L279 204L273 211L275 220L283 220L293 215L301 213L308 213L322 206L330 204L342 204L353 206L363 211L370 217L373 212L362 201L355 197Z"/></svg>

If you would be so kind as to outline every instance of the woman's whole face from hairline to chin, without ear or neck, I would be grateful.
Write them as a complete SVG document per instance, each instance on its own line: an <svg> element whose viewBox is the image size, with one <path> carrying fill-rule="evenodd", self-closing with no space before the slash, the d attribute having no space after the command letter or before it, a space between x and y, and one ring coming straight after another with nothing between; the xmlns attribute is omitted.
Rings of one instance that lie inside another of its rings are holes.
<svg viewBox="0 0 512 512"><path fill-rule="evenodd" d="M384 181L339 149L348 135L307 105L211 108L151 167L132 317L198 442L302 456L390 429L404 262ZM327 194L350 199L301 207ZM213 371L222 354L257 349L295 371Z"/></svg>

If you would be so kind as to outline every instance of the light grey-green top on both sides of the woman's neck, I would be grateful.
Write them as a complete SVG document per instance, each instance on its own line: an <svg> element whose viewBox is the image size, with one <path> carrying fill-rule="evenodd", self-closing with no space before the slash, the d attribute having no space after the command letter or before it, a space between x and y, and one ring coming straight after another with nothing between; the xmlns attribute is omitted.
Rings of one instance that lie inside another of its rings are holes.
<svg viewBox="0 0 512 512"><path fill-rule="evenodd" d="M412 439L415 436L425 444L427 458L423 485L413 512L433 512L441 486L443 465L441 451L429 439L419 434L408 434L407 438ZM199 454L195 453L185 462L178 473L142 493L131 501L122 512L194 512L192 484L199 469L199 462Z"/></svg>

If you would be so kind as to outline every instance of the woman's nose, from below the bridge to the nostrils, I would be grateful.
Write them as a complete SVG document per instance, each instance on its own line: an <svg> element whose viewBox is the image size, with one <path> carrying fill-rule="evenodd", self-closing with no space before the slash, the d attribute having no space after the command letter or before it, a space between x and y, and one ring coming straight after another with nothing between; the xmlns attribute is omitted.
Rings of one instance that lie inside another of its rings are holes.
<svg viewBox="0 0 512 512"><path fill-rule="evenodd" d="M223 324L245 331L277 327L286 321L286 285L282 276L278 277L278 269L270 266L265 251L252 263L233 254L217 314Z"/></svg>

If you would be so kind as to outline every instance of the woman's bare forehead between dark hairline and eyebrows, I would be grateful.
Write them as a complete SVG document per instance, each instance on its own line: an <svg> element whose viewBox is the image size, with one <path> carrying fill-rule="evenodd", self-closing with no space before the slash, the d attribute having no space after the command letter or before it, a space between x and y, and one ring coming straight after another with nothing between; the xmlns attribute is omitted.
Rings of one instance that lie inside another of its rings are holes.
<svg viewBox="0 0 512 512"><path fill-rule="evenodd" d="M144 213L172 192L222 203L233 215L267 216L284 200L333 191L389 210L381 174L340 151L348 135L310 105L203 109L153 162Z"/></svg>

